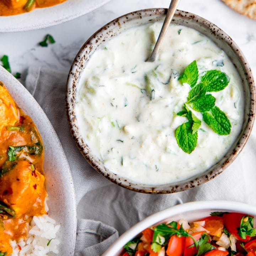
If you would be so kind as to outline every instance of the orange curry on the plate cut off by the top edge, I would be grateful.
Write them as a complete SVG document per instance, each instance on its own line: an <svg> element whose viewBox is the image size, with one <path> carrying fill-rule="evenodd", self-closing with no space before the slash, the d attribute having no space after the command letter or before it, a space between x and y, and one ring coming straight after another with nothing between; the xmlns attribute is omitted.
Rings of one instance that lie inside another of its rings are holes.
<svg viewBox="0 0 256 256"><path fill-rule="evenodd" d="M22 14L35 8L49 7L66 0L0 0L0 16Z"/></svg>

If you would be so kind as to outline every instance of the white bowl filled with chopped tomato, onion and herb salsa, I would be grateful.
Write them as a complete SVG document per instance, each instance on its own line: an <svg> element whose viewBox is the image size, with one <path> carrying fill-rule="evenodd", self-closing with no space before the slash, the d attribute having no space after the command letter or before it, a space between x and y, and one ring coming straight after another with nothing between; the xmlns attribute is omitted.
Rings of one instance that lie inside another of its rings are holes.
<svg viewBox="0 0 256 256"><path fill-rule="evenodd" d="M238 202L180 204L137 223L102 256L256 256L255 216Z"/></svg>

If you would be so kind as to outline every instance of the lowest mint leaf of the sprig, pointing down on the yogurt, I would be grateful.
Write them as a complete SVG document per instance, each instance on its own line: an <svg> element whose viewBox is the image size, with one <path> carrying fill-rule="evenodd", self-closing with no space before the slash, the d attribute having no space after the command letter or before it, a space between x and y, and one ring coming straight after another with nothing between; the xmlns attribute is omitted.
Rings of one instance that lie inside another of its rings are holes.
<svg viewBox="0 0 256 256"><path fill-rule="evenodd" d="M191 122L183 123L175 131L175 138L178 146L190 154L197 145L197 132L193 134Z"/></svg>

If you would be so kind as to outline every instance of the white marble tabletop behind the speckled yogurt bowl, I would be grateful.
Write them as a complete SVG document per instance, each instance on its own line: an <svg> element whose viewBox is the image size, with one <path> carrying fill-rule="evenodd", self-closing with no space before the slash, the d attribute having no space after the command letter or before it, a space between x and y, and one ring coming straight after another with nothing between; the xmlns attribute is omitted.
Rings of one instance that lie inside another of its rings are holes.
<svg viewBox="0 0 256 256"><path fill-rule="evenodd" d="M23 84L30 65L68 72L79 48L98 28L130 11L168 7L169 3L170 0L111 0L100 9L54 27L0 33L0 57L4 54L9 56L12 72L22 73ZM222 28L239 45L252 70L256 71L256 21L236 13L221 0L181 0L178 9L198 14ZM56 43L47 48L38 46L48 33L54 36Z"/></svg>

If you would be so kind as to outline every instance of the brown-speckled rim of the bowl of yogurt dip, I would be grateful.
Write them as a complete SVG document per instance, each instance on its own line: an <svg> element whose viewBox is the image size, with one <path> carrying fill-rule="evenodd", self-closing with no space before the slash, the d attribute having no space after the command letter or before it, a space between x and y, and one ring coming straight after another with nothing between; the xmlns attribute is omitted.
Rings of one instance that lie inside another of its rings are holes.
<svg viewBox="0 0 256 256"><path fill-rule="evenodd" d="M242 66L241 68L244 70L246 80L247 80L247 82L244 82L244 88L246 84L246 86L248 85L250 89L250 102L249 102L250 107L249 107L248 117L246 115L244 117L244 122L245 123L247 122L247 124L246 126L244 126L244 129L241 130L236 140L236 143L237 143L236 146L234 146L235 143L231 145L231 148L233 148L233 150L229 149L222 159L220 159L216 164L214 164L212 167L210 167L208 170L206 170L202 174L196 175L196 177L191 177L185 181L181 181L178 183L170 183L165 185L154 186L154 185L139 184L139 183L130 181L126 178L120 178L118 175L112 174L110 171L108 171L108 169L105 166L103 166L102 168L100 165L98 165L97 159L95 160L93 154L90 153L89 146L86 145L86 143L84 142L84 139L79 133L79 126L77 124L77 119L75 114L75 101L76 101L76 89L77 89L76 85L78 84L80 73L84 71L83 60L85 60L86 58L90 58L90 52L91 52L91 49L93 48L92 46L94 44L97 44L97 42L101 40L101 38L103 37L103 32L106 33L106 31L111 31L111 27L117 26L117 25L121 27L122 22L125 23L127 21L132 21L135 19L139 20L142 17L150 17L152 15L164 16L166 12L167 12L167 9L165 8L143 9L143 10L138 10L134 12L129 12L128 14L122 15L112 20L111 22L107 23L105 26L101 27L89 39L87 39L85 44L79 50L78 54L74 59L73 64L71 65L67 83L66 83L65 100L66 100L66 114L68 118L69 128L73 136L73 139L75 140L75 143L78 146L84 158L89 162L89 164L95 170L100 172L100 174L102 174L104 177L106 177L108 180L112 181L113 183L116 183L119 186L128 188L132 191L142 192L142 193L151 193L151 194L166 194L166 193L184 191L189 188L202 185L203 183L219 175L224 169L226 169L226 167L228 167L231 164L231 162L233 162L236 159L238 154L244 148L249 138L249 135L251 133L252 126L255 119L255 104L254 104L255 83L254 83L250 66L247 63L247 60L245 59L244 54L241 52L240 48L228 36L228 34L226 34L224 31L222 31L219 27L217 27L212 22L198 15L192 14L190 12L176 10L174 19L181 18L181 19L184 19L185 21L190 20L191 22L194 22L194 23L196 22L202 27L207 28L207 30L209 30L212 34L214 34L215 38L224 41L225 44L230 47L230 50L235 54L236 58L240 61L240 64ZM82 71L79 71L79 68L81 68ZM248 98L248 101L249 101L249 98ZM163 186L165 188L161 188Z"/></svg>

